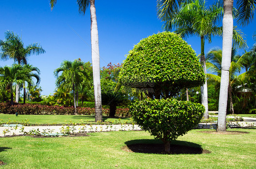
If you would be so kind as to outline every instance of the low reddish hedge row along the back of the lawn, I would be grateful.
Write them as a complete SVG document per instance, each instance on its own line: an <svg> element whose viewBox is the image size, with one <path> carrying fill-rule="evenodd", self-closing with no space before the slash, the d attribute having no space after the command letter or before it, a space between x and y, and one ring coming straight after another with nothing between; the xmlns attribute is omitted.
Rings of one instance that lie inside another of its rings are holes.
<svg viewBox="0 0 256 169"><path fill-rule="evenodd" d="M74 114L74 107L48 106L41 104L16 104L10 106L8 103L0 103L0 113L4 114ZM78 107L77 114L91 115L95 109L89 107ZM102 109L103 115L109 115L109 109ZM129 116L129 109L117 109L117 116Z"/></svg>

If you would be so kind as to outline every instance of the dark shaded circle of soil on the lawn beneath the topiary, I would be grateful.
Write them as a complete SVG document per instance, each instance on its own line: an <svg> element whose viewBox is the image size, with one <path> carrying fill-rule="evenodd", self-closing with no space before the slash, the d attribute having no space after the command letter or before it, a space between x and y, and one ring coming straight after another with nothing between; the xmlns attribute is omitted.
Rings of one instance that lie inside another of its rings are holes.
<svg viewBox="0 0 256 169"><path fill-rule="evenodd" d="M122 149L127 152L147 154L209 154L208 150L202 149L201 145L173 140L170 145L170 152L164 152L164 144L156 139L136 139L125 142Z"/></svg>

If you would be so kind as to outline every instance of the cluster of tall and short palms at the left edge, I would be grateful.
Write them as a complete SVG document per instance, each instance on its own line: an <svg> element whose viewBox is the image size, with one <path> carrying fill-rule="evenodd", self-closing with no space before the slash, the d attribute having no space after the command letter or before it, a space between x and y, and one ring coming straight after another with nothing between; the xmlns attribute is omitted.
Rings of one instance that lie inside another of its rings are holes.
<svg viewBox="0 0 256 169"><path fill-rule="evenodd" d="M26 85L33 84L32 77L35 77L39 84L40 82L40 71L37 67L28 65L27 57L30 55L39 55L45 53L41 45L34 43L28 46L24 46L21 38L12 31L5 32L5 40L0 40L0 59L8 60L13 59L15 65L1 67L1 83L5 88L10 90L11 104L13 104L13 89L12 86L16 85L16 103L19 102L20 87L23 86L23 101L26 102ZM36 73L33 73L36 72ZM26 74L26 75L24 75Z"/></svg>

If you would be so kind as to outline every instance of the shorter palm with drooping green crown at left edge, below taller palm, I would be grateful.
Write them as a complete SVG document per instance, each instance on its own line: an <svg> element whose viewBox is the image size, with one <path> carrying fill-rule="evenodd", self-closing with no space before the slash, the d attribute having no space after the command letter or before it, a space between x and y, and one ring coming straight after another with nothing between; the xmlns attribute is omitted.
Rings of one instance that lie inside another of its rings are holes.
<svg viewBox="0 0 256 169"><path fill-rule="evenodd" d="M13 84L23 84L25 81L28 84L33 84L32 73L24 69L21 65L12 65L0 67L0 83L7 89L10 89L10 104L13 105Z"/></svg>

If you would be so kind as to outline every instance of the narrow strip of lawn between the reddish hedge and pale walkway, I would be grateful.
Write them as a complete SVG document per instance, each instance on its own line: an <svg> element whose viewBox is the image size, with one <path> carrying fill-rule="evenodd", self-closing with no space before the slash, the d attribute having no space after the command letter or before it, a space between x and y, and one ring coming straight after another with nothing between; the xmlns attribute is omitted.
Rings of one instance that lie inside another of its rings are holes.
<svg viewBox="0 0 256 169"><path fill-rule="evenodd" d="M0 114L0 123L18 123L24 124L26 121L30 124L74 124L74 123L89 123L95 124L94 115L26 115L19 114ZM108 118L103 116L104 122L109 123L131 123L131 119L128 117L120 118Z"/></svg>

